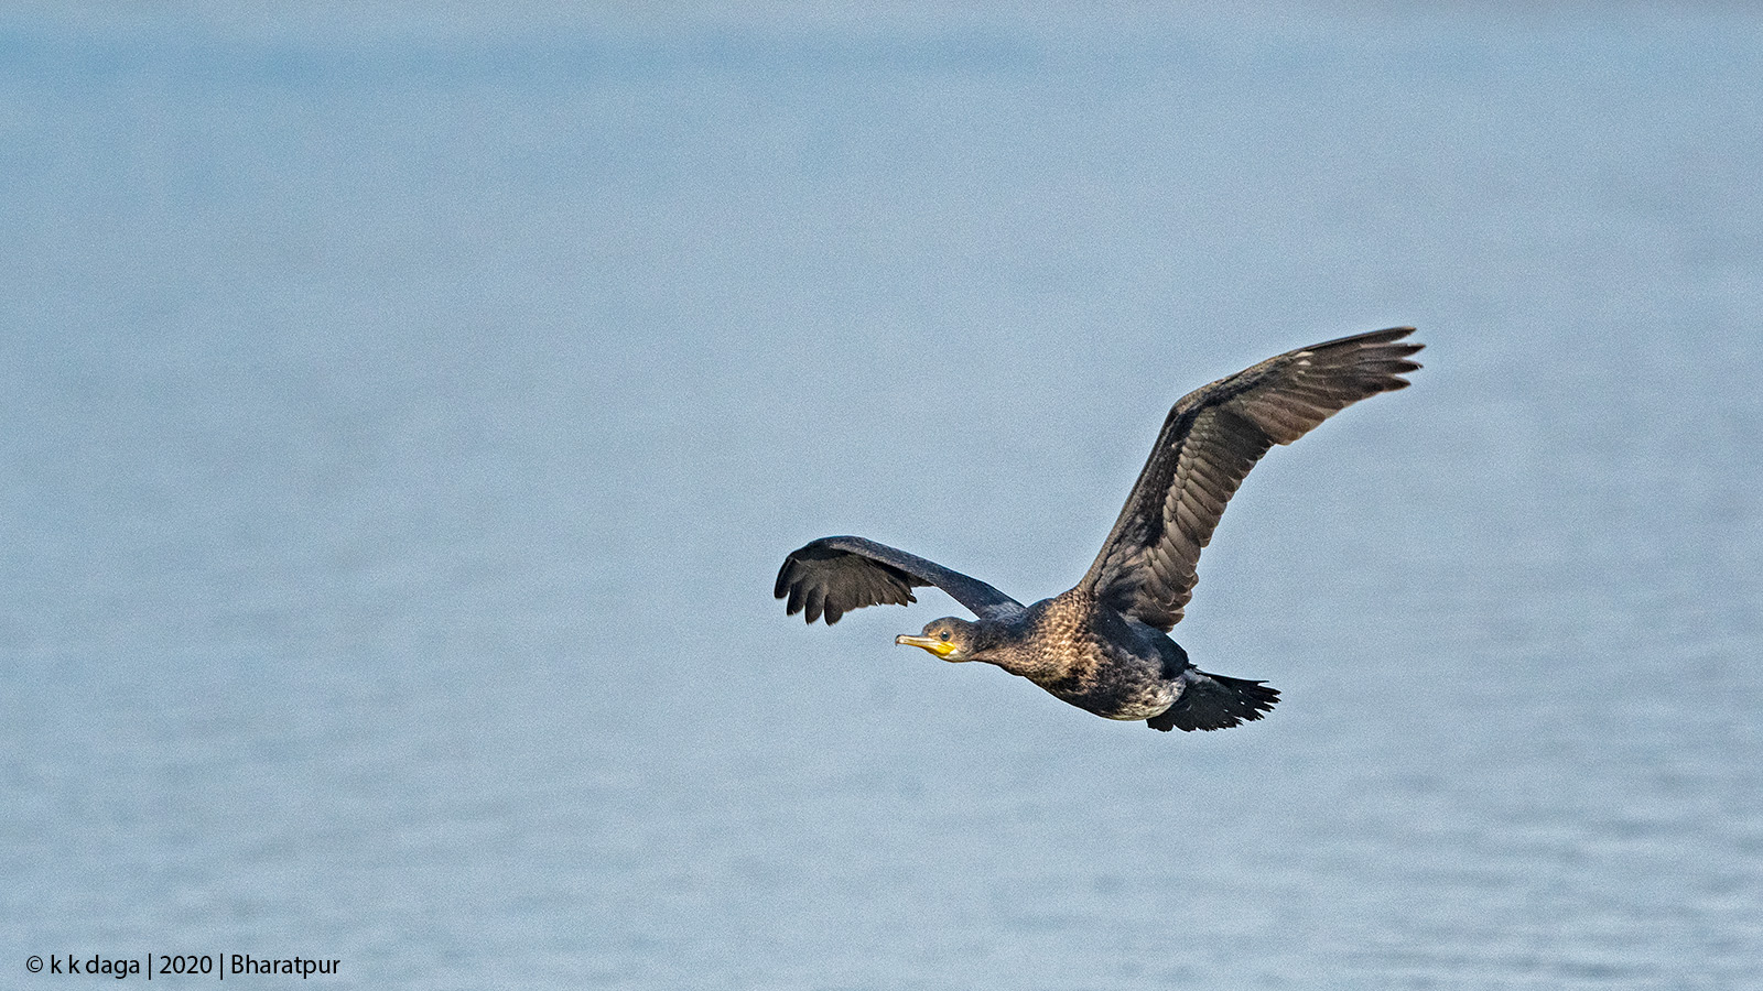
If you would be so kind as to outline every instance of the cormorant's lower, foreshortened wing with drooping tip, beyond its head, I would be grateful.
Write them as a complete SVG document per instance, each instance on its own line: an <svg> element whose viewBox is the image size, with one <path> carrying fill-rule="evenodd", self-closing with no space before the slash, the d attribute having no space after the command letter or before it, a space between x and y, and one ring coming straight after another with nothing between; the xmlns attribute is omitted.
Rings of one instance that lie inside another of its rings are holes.
<svg viewBox="0 0 1763 991"><path fill-rule="evenodd" d="M911 589L922 585L943 589L980 619L1000 619L1023 608L1023 603L978 578L860 536L823 536L792 550L777 570L772 594L790 600L790 615L806 612L809 622L825 615L827 626L832 626L853 608L919 601Z"/></svg>

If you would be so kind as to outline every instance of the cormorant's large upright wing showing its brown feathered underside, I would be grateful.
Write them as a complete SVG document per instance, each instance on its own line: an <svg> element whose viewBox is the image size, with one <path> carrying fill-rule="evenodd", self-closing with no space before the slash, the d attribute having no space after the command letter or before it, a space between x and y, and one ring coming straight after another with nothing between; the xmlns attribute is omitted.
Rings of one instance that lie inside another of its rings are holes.
<svg viewBox="0 0 1763 991"><path fill-rule="evenodd" d="M1079 587L1169 631L1194 596L1201 548L1225 503L1273 444L1291 444L1335 413L1407 388L1421 344L1412 326L1342 337L1245 369L1176 402L1151 458Z"/></svg>

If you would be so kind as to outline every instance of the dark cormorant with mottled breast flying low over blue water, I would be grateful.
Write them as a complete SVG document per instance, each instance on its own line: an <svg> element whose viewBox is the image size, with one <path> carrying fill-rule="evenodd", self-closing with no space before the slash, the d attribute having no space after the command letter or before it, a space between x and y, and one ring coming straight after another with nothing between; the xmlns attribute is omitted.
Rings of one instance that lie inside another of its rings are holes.
<svg viewBox="0 0 1763 991"><path fill-rule="evenodd" d="M1109 719L1153 730L1222 730L1261 719L1280 693L1199 670L1169 631L1194 594L1201 548L1238 485L1273 444L1291 444L1342 409L1407 388L1419 369L1410 326L1342 337L1227 376L1185 395L1095 564L1070 591L1023 605L978 578L860 536L792 550L776 596L807 622L867 605L908 605L936 585L977 619L943 617L896 644L945 661L986 661Z"/></svg>

